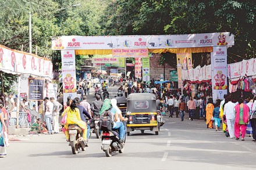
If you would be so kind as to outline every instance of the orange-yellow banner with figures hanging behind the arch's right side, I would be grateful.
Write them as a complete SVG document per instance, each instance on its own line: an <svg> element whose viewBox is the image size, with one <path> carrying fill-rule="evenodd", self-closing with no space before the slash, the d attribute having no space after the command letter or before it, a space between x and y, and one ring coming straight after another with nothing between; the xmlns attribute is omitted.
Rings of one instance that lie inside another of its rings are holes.
<svg viewBox="0 0 256 170"><path fill-rule="evenodd" d="M191 53L177 53L177 75L178 75L178 87L182 88L182 70L189 70L187 59L191 62ZM191 67L192 68L192 65Z"/></svg>

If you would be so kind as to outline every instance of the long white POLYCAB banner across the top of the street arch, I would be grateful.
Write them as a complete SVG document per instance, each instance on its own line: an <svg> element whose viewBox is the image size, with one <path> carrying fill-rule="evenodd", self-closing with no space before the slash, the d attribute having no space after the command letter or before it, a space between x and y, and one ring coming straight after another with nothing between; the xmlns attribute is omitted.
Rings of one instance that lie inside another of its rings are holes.
<svg viewBox="0 0 256 170"><path fill-rule="evenodd" d="M62 36L52 38L52 49L162 49L232 46L234 35L214 32L184 35Z"/></svg>

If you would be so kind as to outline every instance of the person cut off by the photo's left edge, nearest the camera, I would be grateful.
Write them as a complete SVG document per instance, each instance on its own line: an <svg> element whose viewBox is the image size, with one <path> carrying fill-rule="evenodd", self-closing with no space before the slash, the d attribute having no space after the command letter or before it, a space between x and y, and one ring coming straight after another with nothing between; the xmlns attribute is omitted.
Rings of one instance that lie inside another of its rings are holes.
<svg viewBox="0 0 256 170"><path fill-rule="evenodd" d="M3 120L3 113L0 110L0 157L6 157L6 150L5 150L6 143L5 143L5 136L4 136L4 133L6 131L7 131L7 127L5 125L5 121Z"/></svg>

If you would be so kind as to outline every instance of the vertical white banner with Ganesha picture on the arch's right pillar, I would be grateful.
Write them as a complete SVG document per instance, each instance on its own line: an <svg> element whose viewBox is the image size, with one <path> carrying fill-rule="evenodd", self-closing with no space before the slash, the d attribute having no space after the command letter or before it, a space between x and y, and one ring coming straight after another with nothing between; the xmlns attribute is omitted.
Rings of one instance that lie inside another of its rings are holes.
<svg viewBox="0 0 256 170"><path fill-rule="evenodd" d="M213 99L223 99L227 94L227 47L214 46L212 57Z"/></svg>

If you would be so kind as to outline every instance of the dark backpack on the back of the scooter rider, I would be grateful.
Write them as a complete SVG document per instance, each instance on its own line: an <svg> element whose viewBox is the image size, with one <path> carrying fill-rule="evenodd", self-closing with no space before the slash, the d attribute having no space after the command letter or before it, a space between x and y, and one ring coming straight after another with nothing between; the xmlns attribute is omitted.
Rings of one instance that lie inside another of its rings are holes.
<svg viewBox="0 0 256 170"><path fill-rule="evenodd" d="M100 131L111 131L113 127L112 114L106 111L99 118L99 130Z"/></svg>

